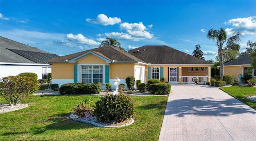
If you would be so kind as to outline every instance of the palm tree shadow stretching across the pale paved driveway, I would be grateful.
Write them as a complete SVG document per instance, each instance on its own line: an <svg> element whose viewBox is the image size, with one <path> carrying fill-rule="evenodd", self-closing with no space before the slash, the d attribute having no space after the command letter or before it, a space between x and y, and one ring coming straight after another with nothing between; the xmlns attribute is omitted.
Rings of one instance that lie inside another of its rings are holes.
<svg viewBox="0 0 256 141"><path fill-rule="evenodd" d="M229 116L241 113L256 114L254 109L238 99L220 100L212 97L171 100L167 103L166 111L169 111L170 115L174 114L178 117L185 117L186 115Z"/></svg>

